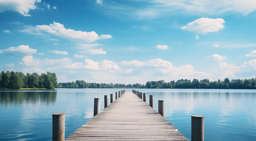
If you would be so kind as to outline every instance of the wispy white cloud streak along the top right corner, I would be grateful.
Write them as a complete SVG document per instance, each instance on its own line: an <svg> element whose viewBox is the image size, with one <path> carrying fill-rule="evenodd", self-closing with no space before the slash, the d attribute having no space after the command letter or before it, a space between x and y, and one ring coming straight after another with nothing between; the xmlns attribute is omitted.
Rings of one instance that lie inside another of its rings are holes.
<svg viewBox="0 0 256 141"><path fill-rule="evenodd" d="M234 12L249 14L256 11L256 2L253 0L150 0L156 4L162 4L159 8L169 8L175 11L182 10L186 13L210 15Z"/></svg>

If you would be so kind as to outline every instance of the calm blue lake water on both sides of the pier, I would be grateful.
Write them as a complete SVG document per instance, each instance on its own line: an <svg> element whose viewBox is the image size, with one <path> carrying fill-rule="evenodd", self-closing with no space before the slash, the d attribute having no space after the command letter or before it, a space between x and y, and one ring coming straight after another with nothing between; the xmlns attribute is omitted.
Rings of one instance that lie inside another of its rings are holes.
<svg viewBox="0 0 256 141"><path fill-rule="evenodd" d="M0 141L52 141L52 113L65 113L65 137L93 117L94 98L121 89L0 91ZM204 116L205 141L256 141L256 91L136 89L164 100L165 118L191 139L191 115ZM126 89L132 91L132 89ZM114 96L115 97L115 96Z"/></svg>

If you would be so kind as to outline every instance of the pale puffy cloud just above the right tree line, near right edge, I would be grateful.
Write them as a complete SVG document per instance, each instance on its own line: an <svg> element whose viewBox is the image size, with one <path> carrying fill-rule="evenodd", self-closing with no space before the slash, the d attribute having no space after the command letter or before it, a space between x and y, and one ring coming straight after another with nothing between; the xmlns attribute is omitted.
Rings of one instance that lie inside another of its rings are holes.
<svg viewBox="0 0 256 141"><path fill-rule="evenodd" d="M226 62L219 62L219 70L217 74L221 79L223 78L234 78L234 74L239 72L241 67L234 64L228 64Z"/></svg>

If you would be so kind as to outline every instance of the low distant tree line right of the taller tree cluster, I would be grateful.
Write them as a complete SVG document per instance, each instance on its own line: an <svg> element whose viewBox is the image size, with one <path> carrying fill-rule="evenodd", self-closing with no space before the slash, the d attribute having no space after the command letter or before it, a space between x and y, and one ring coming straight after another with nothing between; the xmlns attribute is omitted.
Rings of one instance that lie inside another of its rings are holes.
<svg viewBox="0 0 256 141"><path fill-rule="evenodd" d="M176 82L148 81L146 85L141 84L106 84L106 83L88 83L83 80L76 80L76 82L59 83L60 88L147 88L147 89L256 89L256 80L252 79L233 79L225 78L224 81L209 81L209 79L180 79Z"/></svg>

